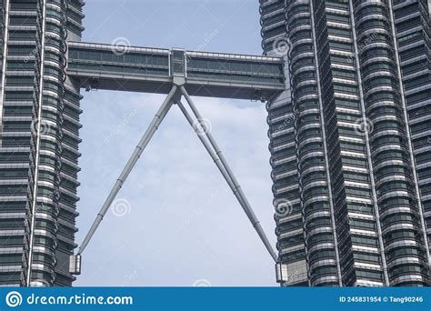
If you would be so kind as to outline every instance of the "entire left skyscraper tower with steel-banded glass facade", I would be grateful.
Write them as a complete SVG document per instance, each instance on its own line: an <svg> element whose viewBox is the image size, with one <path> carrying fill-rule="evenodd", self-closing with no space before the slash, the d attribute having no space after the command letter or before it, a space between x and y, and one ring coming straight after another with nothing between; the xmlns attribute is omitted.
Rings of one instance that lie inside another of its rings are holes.
<svg viewBox="0 0 431 311"><path fill-rule="evenodd" d="M0 285L71 286L78 88L65 75L80 0L3 0L0 94Z"/></svg>

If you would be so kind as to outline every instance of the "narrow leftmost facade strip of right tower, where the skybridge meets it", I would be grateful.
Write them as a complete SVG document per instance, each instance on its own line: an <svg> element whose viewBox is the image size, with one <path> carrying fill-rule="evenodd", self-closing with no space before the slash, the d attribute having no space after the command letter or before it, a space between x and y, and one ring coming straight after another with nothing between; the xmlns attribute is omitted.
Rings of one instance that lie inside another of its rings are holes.
<svg viewBox="0 0 431 311"><path fill-rule="evenodd" d="M265 54L283 57L286 61L286 91L266 105L271 178L274 182L273 203L276 208L276 247L279 260L286 267L282 286L308 286L294 135L296 113L290 87L286 3L284 0L261 0L260 13Z"/></svg>

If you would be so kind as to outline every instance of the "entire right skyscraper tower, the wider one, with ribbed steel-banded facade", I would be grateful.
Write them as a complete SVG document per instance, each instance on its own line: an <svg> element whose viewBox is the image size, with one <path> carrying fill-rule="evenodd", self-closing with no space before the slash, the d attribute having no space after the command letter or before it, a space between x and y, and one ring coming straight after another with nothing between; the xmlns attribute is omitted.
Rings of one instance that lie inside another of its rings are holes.
<svg viewBox="0 0 431 311"><path fill-rule="evenodd" d="M427 286L430 3L261 0L285 286Z"/></svg>

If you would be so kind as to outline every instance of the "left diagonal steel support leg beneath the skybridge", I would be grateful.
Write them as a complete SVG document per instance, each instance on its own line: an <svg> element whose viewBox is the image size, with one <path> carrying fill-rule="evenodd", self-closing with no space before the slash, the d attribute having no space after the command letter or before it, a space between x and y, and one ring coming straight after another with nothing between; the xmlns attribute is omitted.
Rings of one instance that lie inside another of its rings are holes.
<svg viewBox="0 0 431 311"><path fill-rule="evenodd" d="M95 230L97 230L97 227L104 219L104 216L107 210L109 209L109 206L111 206L112 202L115 199L115 196L117 195L118 191L121 189L121 186L123 186L125 179L132 171L137 160L142 155L142 152L144 151L146 145L148 145L148 142L150 141L151 137L153 137L158 126L162 123L163 119L165 118L165 115L173 105L172 97L175 95L176 91L177 91L177 86L174 85L171 91L169 92L169 94L166 96L165 101L163 102L163 104L160 106L157 113L155 114L153 121L151 121L150 125L146 129L145 134L142 136L141 140L139 141L139 144L136 145L134 153L132 154L132 156L130 156L129 160L127 161L125 168L123 169L120 176L116 180L115 185L113 186L111 192L109 193L109 196L107 196L104 205L102 206L99 213L95 217L95 222L93 223L87 235L85 236L85 239L82 245L79 247L78 253L77 253L78 255L84 252L85 246L88 245L88 242L90 242L90 239L95 234Z"/></svg>

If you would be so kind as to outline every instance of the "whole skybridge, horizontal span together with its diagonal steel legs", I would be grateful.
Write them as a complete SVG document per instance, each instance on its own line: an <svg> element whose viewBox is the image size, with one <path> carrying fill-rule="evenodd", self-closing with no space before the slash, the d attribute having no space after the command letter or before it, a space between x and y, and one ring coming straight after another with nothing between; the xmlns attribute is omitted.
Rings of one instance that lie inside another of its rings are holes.
<svg viewBox="0 0 431 311"><path fill-rule="evenodd" d="M94 236L106 212L115 200L125 180L145 147L161 125L172 106L179 107L195 131L205 150L225 178L234 196L243 208L269 255L276 262L277 276L282 269L244 191L236 180L215 137L205 128L205 118L197 110L192 96L209 96L270 101L285 90L284 61L282 58L233 55L186 51L184 49L158 49L100 45L82 42L68 43L67 75L74 84L86 90L118 90L165 94L152 122L135 147L115 181L95 221L70 257L70 273L81 273L81 255ZM185 106L183 101L188 105Z"/></svg>

